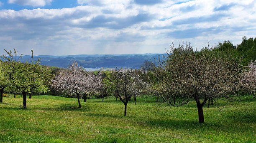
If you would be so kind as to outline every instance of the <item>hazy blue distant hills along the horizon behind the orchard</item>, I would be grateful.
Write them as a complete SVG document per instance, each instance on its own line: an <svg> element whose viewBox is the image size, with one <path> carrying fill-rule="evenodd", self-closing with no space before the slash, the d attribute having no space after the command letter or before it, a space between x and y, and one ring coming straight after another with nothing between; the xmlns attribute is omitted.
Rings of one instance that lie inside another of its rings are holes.
<svg viewBox="0 0 256 143"><path fill-rule="evenodd" d="M49 56L41 55L34 56L34 60L40 58L41 65L66 68L72 64L73 61L77 62L79 66L84 68L136 68L140 69L141 64L146 60L154 61L162 54L81 54L81 55L68 55L68 56ZM166 54L164 54L166 55ZM20 62L30 62L31 56L23 56Z"/></svg>

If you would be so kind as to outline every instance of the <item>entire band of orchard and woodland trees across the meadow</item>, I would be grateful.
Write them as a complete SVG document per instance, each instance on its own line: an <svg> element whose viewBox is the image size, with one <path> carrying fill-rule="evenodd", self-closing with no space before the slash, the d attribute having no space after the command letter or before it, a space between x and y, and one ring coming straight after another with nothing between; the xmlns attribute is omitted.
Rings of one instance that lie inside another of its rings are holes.
<svg viewBox="0 0 256 143"><path fill-rule="evenodd" d="M5 51L0 62L0 91L23 96L48 94L77 98L84 102L91 96L114 96L123 102L126 116L128 102L136 97L156 97L159 105L183 106L197 103L199 122L204 123L203 106L217 100L237 101L241 95L255 94L256 38L243 37L234 46L229 41L215 47L196 50L189 43L170 47L170 52L152 61L145 61L141 69L115 69L86 72L74 62L67 69L41 66L40 61L21 63L17 52ZM253 62L254 61L254 62ZM31 98L31 96L30 96Z"/></svg>

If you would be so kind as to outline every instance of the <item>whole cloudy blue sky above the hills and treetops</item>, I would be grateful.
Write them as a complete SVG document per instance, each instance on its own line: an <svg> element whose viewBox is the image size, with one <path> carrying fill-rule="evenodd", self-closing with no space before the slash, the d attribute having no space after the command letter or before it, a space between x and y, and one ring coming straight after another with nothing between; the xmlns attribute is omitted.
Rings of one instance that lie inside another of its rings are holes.
<svg viewBox="0 0 256 143"><path fill-rule="evenodd" d="M165 53L256 37L256 0L0 0L0 54Z"/></svg>

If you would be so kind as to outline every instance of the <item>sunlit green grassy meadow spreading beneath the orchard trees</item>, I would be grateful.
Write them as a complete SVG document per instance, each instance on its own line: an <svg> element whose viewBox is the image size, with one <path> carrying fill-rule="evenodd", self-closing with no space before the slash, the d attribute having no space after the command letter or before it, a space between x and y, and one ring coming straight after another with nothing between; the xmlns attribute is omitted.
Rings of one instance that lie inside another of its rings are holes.
<svg viewBox="0 0 256 143"><path fill-rule="evenodd" d="M1 143L256 143L256 99L219 102L204 108L198 123L195 102L159 108L155 99L138 98L124 105L115 99L32 96L28 109L22 98L4 97L0 104Z"/></svg>

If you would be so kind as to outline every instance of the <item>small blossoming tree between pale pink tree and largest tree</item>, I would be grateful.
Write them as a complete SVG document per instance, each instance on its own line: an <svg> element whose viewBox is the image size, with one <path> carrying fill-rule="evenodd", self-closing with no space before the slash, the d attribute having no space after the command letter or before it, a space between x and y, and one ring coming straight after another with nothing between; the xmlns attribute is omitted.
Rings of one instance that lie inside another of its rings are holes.
<svg viewBox="0 0 256 143"><path fill-rule="evenodd" d="M143 82L141 76L133 69L115 69L112 73L112 87L116 97L125 105L124 116L126 116L127 104L131 98L140 96L148 84ZM136 101L136 99L135 99Z"/></svg>

